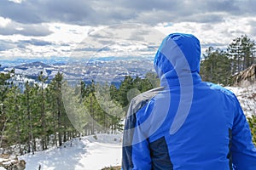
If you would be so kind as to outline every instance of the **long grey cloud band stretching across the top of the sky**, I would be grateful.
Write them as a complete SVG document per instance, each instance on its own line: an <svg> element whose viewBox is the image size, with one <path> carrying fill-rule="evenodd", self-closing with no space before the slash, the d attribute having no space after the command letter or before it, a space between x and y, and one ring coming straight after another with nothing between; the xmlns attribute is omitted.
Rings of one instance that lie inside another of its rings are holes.
<svg viewBox="0 0 256 170"><path fill-rule="evenodd" d="M0 15L23 24L64 22L80 26L111 25L121 22L158 24L160 22L216 22L225 14L246 16L256 14L256 3L246 1L179 1L143 0L84 1L26 0L20 3L3 0ZM209 14L213 13L213 14Z"/></svg>

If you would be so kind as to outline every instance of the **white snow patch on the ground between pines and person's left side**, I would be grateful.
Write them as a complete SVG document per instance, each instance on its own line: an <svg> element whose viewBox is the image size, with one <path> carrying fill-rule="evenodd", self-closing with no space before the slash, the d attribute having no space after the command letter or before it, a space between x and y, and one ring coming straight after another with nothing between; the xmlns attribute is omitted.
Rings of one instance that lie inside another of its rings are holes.
<svg viewBox="0 0 256 170"><path fill-rule="evenodd" d="M96 134L72 139L61 147L26 154L26 170L96 170L121 165L122 134Z"/></svg>

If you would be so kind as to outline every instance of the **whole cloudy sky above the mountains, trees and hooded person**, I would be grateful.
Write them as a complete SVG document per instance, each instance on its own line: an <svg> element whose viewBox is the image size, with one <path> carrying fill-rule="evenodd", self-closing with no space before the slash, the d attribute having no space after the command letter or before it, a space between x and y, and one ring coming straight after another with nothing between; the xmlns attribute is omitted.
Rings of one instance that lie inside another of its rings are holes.
<svg viewBox="0 0 256 170"><path fill-rule="evenodd" d="M255 40L255 6L254 0L1 0L0 59L77 51L148 56L172 32L194 34L203 54L241 35Z"/></svg>

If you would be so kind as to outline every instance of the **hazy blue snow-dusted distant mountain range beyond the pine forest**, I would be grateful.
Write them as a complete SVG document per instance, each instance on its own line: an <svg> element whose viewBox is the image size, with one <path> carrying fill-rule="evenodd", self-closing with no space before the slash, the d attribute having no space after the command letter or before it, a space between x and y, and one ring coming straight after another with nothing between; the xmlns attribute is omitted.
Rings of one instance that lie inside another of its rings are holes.
<svg viewBox="0 0 256 170"><path fill-rule="evenodd" d="M1 60L0 71L7 72L15 69L13 82L37 82L43 72L49 81L59 71L65 80L76 82L120 82L125 76L144 77L153 71L153 59L145 58L98 58L98 59L15 59Z"/></svg>

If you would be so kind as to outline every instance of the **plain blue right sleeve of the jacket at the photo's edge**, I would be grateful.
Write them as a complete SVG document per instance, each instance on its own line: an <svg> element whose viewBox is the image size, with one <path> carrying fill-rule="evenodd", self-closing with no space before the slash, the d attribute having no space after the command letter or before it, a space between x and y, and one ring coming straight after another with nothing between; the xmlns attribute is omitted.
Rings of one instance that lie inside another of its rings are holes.
<svg viewBox="0 0 256 170"><path fill-rule="evenodd" d="M256 148L253 145L252 135L246 116L236 99L236 113L232 128L231 140L232 161L237 170L256 169Z"/></svg>

